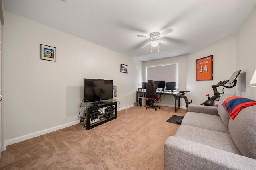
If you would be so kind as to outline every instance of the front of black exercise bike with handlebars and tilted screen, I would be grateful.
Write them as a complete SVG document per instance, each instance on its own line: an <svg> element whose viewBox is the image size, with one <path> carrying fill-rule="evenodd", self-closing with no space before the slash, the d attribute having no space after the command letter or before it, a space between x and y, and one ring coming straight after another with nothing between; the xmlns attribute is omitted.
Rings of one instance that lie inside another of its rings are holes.
<svg viewBox="0 0 256 170"><path fill-rule="evenodd" d="M214 95L212 97L209 97L208 95L206 95L208 96L208 100L204 101L201 105L214 106L214 102L219 101L220 94L224 94L224 88L233 88L234 86L236 86L236 82L237 82L236 78L238 77L240 72L241 70L238 70L232 74L229 80L220 81L218 82L218 84L212 85ZM224 88L222 89L222 93L219 93L217 88L221 86Z"/></svg>

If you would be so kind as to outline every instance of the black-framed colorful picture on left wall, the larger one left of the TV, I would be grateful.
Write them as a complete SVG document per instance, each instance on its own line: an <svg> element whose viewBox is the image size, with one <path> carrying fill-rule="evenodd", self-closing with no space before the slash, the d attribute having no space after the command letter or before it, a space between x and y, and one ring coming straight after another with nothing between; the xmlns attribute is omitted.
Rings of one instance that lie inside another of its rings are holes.
<svg viewBox="0 0 256 170"><path fill-rule="evenodd" d="M56 48L41 44L41 60L56 61Z"/></svg>

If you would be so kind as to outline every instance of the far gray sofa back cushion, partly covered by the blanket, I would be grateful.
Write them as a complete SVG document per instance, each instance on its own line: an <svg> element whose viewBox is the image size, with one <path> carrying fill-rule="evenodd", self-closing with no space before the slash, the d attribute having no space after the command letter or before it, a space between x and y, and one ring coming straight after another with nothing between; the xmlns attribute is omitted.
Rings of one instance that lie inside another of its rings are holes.
<svg viewBox="0 0 256 170"><path fill-rule="evenodd" d="M220 115L220 119L222 119L224 125L226 125L226 127L228 128L228 122L229 122L229 113L228 111L225 110L225 108L223 106L221 106L221 104L226 100L226 98L231 97L233 95L231 94L222 94L222 96L220 96L220 101L218 104L218 114Z"/></svg>

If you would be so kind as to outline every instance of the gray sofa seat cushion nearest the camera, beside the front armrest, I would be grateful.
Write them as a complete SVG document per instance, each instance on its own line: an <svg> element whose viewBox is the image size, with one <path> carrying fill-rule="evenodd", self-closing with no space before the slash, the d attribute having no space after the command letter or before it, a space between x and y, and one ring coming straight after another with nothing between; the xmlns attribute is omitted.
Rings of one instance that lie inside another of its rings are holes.
<svg viewBox="0 0 256 170"><path fill-rule="evenodd" d="M174 136L225 150L227 152L240 154L228 133L210 131L190 125L180 125Z"/></svg>

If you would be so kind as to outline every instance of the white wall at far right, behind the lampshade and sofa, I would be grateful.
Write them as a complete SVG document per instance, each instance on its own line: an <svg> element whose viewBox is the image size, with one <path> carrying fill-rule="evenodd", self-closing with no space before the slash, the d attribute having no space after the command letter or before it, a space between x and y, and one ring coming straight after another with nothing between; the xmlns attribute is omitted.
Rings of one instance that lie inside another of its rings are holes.
<svg viewBox="0 0 256 170"><path fill-rule="evenodd" d="M248 86L256 69L256 6L238 31L236 41L236 68L246 72L244 97L256 100L256 87Z"/></svg>

